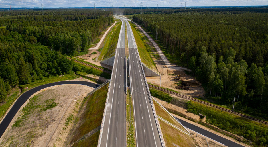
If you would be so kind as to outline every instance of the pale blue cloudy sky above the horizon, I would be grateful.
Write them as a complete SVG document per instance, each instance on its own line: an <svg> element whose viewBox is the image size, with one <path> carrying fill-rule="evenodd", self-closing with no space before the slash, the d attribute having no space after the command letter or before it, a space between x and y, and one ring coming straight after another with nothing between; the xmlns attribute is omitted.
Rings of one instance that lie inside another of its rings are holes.
<svg viewBox="0 0 268 147"><path fill-rule="evenodd" d="M180 3L187 1L187 6L259 6L268 5L268 0L0 0L1 8L8 8L9 3L11 8L20 7L41 7L44 8L59 8L59 7L138 7L142 3L143 7L178 7Z"/></svg>

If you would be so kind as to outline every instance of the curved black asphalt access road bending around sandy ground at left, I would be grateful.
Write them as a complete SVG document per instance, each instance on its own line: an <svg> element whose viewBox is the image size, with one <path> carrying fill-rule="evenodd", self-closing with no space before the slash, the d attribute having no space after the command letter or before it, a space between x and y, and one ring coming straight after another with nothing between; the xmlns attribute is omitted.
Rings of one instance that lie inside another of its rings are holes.
<svg viewBox="0 0 268 147"><path fill-rule="evenodd" d="M95 83L88 82L88 81L60 81L60 82L41 85L41 86L38 86L38 87L35 87L33 89L26 91L17 99L17 101L14 103L14 105L11 107L11 109L7 113L7 115L3 118L3 121L0 123L0 138L4 134L5 130L7 129L10 122L12 121L14 116L17 114L21 106L29 99L29 97L31 97L31 95L33 95L37 91L42 90L44 88L56 86L56 85L64 85L64 84L79 84L79 85L86 85L86 86L93 87L93 88L96 87L97 85Z"/></svg>

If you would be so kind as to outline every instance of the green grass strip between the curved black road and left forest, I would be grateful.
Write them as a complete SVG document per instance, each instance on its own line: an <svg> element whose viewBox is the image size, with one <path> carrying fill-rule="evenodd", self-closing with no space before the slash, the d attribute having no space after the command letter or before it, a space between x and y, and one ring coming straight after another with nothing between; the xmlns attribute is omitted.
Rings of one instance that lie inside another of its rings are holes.
<svg viewBox="0 0 268 147"><path fill-rule="evenodd" d="M40 85L54 83L54 82L58 82L58 81L72 80L75 78L78 78L78 76L76 76L74 74L74 72L72 72L71 74L64 75L61 77L59 77L59 76L44 77L42 80L36 80L35 82L32 82L30 84L26 84L26 85L19 85L19 87L22 88L21 93L23 93L23 92L25 92L25 90L30 90L30 89L37 87L37 86L40 86ZM25 89L26 87L28 87L28 89ZM20 95L19 88L18 87L14 88L12 90L12 93L7 97L6 103L0 105L0 119L3 118L7 109L9 109L9 107L19 97L19 95Z"/></svg>

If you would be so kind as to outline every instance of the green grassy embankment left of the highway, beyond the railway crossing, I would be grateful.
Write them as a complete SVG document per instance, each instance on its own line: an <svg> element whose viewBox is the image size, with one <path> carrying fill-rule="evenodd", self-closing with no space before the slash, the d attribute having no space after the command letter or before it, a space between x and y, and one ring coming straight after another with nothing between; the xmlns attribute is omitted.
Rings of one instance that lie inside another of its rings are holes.
<svg viewBox="0 0 268 147"><path fill-rule="evenodd" d="M100 52L98 60L111 57L115 54L115 49L118 42L122 22L118 22L113 28L111 28L108 35L105 37L104 46Z"/></svg>

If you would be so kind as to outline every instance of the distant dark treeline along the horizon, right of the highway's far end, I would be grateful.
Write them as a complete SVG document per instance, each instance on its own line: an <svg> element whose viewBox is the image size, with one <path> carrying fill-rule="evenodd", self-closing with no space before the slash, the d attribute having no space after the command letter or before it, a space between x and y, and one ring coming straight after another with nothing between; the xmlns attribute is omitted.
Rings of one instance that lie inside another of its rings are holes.
<svg viewBox="0 0 268 147"><path fill-rule="evenodd" d="M112 9L115 14L123 14L123 15L134 15L140 14L141 10L139 8L136 9ZM218 14L218 13L229 13L229 14L241 14L246 12L257 12L257 13L267 13L268 9L265 7L258 8L206 8L206 9L184 9L182 8L142 8L143 14L171 14L171 13L188 13L188 12L202 12L209 14Z"/></svg>

